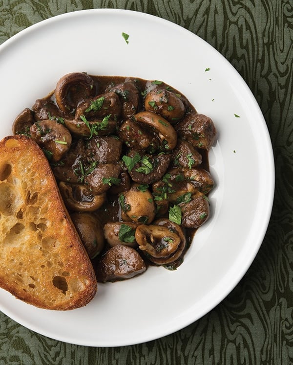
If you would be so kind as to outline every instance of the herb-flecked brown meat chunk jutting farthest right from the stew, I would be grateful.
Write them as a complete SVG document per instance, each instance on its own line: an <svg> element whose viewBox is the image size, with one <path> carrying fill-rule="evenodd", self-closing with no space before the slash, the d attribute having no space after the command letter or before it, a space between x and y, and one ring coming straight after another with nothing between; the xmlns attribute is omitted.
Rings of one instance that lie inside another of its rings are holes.
<svg viewBox="0 0 293 365"><path fill-rule="evenodd" d="M216 137L213 121L204 114L187 114L175 129L182 139L187 139L196 148L209 149Z"/></svg>

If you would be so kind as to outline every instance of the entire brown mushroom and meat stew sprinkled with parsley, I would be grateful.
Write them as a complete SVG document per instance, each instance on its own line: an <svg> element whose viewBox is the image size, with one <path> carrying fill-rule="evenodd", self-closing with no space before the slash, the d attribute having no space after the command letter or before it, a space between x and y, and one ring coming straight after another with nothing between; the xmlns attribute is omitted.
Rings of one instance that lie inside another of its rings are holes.
<svg viewBox="0 0 293 365"><path fill-rule="evenodd" d="M209 219L215 126L162 81L69 73L12 131L49 160L98 281L175 270Z"/></svg>

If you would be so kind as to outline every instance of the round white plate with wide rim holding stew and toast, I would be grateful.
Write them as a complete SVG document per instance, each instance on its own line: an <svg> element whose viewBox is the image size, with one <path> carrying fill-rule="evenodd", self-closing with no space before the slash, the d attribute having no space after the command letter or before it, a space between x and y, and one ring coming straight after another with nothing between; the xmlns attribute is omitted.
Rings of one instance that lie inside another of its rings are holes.
<svg viewBox="0 0 293 365"><path fill-rule="evenodd" d="M72 71L163 80L213 119L218 139L209 152L216 182L209 196L212 216L177 271L150 267L136 278L99 284L87 306L67 312L35 308L0 290L0 310L64 342L120 346L154 340L209 312L251 265L272 209L268 130L243 79L205 41L151 15L96 9L37 23L0 46L0 138L11 134L22 109Z"/></svg>

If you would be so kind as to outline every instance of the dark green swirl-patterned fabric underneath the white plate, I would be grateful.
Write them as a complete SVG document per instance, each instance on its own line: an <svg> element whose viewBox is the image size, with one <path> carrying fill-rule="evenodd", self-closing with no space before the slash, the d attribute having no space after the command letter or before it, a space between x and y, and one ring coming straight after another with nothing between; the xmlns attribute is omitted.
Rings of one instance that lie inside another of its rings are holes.
<svg viewBox="0 0 293 365"><path fill-rule="evenodd" d="M0 43L43 19L107 7L177 23L240 72L272 138L276 188L270 225L237 287L188 327L144 344L94 348L46 338L0 313L0 365L293 364L293 1L0 0Z"/></svg>

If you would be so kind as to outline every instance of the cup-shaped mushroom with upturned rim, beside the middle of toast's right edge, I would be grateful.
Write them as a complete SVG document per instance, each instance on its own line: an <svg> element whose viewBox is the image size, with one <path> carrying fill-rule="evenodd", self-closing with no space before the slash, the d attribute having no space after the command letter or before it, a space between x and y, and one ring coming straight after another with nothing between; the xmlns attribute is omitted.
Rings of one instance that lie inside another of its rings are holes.
<svg viewBox="0 0 293 365"><path fill-rule="evenodd" d="M77 212L93 212L106 200L105 193L93 195L84 184L60 182L59 190L66 207Z"/></svg>

